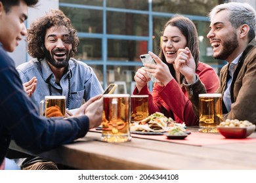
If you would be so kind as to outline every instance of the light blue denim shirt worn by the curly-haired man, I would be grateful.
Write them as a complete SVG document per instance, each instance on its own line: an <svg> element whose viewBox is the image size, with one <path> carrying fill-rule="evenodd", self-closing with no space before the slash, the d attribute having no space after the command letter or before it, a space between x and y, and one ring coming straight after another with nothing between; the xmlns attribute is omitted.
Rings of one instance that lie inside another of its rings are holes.
<svg viewBox="0 0 256 183"><path fill-rule="evenodd" d="M71 58L68 63L68 71L56 84L56 78L45 59L38 61L32 59L16 67L22 83L28 82L33 76L37 77L38 83L35 92L32 94L32 101L37 107L46 95L50 95L49 80L52 95L66 95L68 105L68 75L70 75L70 105L69 109L79 108L83 99L88 101L91 97L103 92L102 86L95 75L95 72L87 64ZM67 106L66 106L67 107Z"/></svg>

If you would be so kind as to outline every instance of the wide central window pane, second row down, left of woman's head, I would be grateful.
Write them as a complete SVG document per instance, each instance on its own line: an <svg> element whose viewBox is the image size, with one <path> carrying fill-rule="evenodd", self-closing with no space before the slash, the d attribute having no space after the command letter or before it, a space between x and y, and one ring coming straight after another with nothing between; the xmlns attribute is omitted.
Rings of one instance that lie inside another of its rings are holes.
<svg viewBox="0 0 256 183"><path fill-rule="evenodd" d="M148 36L148 15L107 12L107 33Z"/></svg>

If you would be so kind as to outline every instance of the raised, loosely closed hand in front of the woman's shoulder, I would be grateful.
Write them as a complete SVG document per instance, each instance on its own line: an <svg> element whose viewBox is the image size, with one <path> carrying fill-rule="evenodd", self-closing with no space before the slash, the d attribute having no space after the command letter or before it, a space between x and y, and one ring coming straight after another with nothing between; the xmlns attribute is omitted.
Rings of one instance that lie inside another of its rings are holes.
<svg viewBox="0 0 256 183"><path fill-rule="evenodd" d="M188 84L194 84L194 82L196 82L196 63L187 47L178 50L175 66L176 69L184 75Z"/></svg>

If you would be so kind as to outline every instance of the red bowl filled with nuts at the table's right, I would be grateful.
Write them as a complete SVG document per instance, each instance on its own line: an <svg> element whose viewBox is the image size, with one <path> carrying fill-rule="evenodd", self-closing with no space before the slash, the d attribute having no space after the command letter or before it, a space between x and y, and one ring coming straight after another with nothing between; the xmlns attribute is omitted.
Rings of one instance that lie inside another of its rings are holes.
<svg viewBox="0 0 256 183"><path fill-rule="evenodd" d="M226 119L217 126L217 129L226 139L244 139L255 131L255 125L247 120Z"/></svg>

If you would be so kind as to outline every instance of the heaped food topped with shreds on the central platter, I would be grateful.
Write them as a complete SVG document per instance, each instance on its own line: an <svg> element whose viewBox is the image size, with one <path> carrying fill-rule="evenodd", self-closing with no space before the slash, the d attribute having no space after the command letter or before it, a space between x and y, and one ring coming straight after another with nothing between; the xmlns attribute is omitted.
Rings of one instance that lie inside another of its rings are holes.
<svg viewBox="0 0 256 183"><path fill-rule="evenodd" d="M140 122L130 125L131 131L165 132L178 127L186 131L185 124L177 124L172 118L167 118L161 112L155 112Z"/></svg>

